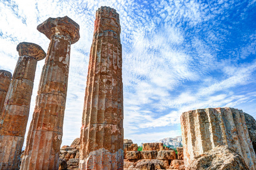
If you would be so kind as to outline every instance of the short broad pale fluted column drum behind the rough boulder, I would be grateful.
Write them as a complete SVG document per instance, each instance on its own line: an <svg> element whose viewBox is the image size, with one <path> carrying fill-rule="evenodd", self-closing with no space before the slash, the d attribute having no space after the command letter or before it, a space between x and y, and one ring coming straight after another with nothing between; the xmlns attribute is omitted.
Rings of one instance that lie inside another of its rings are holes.
<svg viewBox="0 0 256 170"><path fill-rule="evenodd" d="M256 168L245 115L234 108L207 108L182 113L181 133L185 167L191 160L218 145L227 145L240 154L249 169Z"/></svg>

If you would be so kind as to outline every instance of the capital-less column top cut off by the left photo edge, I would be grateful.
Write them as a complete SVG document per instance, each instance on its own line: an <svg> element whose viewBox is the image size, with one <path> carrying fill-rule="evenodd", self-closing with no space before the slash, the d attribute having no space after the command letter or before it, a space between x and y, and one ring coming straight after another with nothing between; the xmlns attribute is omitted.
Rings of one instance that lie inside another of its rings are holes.
<svg viewBox="0 0 256 170"><path fill-rule="evenodd" d="M0 70L0 118L2 115L5 97L11 83L11 73L6 70Z"/></svg>

